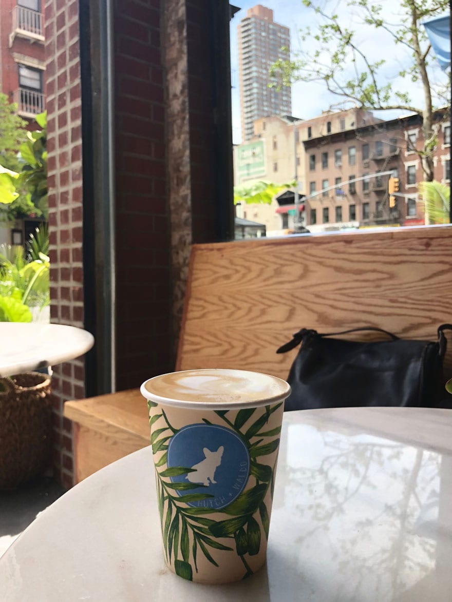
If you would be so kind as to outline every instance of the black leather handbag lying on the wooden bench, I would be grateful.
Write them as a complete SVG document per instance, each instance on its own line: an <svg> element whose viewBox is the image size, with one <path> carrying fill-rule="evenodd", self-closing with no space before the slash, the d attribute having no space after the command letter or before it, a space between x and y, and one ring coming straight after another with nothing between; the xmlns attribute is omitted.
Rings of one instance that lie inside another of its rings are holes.
<svg viewBox="0 0 452 602"><path fill-rule="evenodd" d="M442 376L447 346L444 330L438 341L403 340L380 328L363 327L319 334L302 328L281 346L285 353L301 343L287 382L292 393L285 411L356 406L451 407ZM358 342L337 335L375 330L388 340Z"/></svg>

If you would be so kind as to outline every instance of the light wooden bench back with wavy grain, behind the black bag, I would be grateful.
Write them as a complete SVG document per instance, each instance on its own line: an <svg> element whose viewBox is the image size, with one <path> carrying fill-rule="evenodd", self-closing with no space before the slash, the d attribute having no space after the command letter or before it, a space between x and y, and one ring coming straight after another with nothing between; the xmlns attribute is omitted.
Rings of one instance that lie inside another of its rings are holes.
<svg viewBox="0 0 452 602"><path fill-rule="evenodd" d="M435 341L451 308L452 226L197 244L176 369L285 378L297 350L275 352L301 327Z"/></svg>

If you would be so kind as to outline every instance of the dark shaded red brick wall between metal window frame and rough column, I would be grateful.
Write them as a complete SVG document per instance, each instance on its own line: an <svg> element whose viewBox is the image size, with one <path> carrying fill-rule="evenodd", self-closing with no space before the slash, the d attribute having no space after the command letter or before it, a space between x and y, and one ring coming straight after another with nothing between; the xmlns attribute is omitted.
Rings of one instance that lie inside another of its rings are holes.
<svg viewBox="0 0 452 602"><path fill-rule="evenodd" d="M159 0L115 4L118 390L172 370L171 225Z"/></svg>

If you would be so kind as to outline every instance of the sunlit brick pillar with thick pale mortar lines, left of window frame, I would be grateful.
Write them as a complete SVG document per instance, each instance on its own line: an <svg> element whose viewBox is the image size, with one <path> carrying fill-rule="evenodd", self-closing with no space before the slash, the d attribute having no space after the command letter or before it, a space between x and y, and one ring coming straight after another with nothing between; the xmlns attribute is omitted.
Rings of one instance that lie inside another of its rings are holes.
<svg viewBox="0 0 452 602"><path fill-rule="evenodd" d="M81 87L78 0L45 4L51 322L83 327ZM54 367L54 472L73 483L72 423L63 402L84 397L84 363Z"/></svg>

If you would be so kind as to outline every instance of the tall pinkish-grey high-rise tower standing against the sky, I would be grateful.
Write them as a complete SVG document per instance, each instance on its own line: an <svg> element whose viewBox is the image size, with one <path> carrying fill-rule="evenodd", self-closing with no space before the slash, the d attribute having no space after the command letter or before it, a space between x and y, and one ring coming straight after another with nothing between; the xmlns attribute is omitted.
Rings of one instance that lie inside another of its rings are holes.
<svg viewBox="0 0 452 602"><path fill-rule="evenodd" d="M254 134L260 117L290 115L290 88L269 88L269 68L290 50L289 28L275 23L273 11L260 4L249 8L237 26L239 49L240 108L242 140Z"/></svg>

